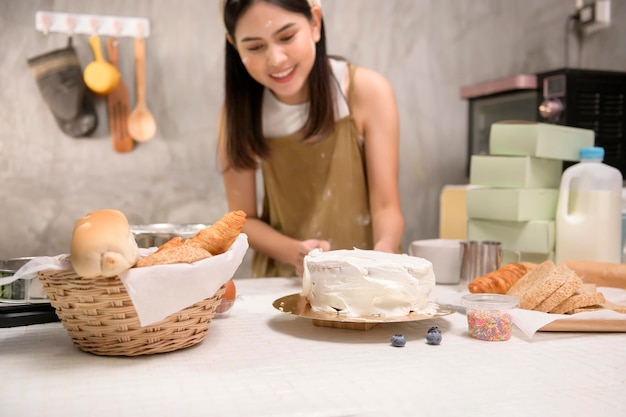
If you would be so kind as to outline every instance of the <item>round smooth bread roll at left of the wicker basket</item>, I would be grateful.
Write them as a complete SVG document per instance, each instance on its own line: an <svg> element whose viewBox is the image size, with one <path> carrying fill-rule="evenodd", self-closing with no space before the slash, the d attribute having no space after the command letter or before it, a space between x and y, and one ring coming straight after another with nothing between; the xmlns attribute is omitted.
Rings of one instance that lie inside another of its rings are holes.
<svg viewBox="0 0 626 417"><path fill-rule="evenodd" d="M139 259L139 249L126 216L106 209L79 219L70 259L74 271L85 278L112 277L130 269Z"/></svg>

